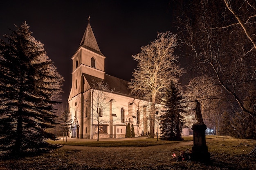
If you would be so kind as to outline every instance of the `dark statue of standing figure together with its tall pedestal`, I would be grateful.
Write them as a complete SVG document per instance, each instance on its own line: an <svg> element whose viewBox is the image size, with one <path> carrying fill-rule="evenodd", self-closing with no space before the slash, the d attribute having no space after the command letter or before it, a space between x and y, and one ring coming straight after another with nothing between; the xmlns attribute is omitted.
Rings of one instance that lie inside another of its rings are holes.
<svg viewBox="0 0 256 170"><path fill-rule="evenodd" d="M196 107L195 109L195 119L197 123L192 125L193 129L193 146L191 159L194 161L208 161L210 159L210 153L208 152L208 147L205 141L205 130L207 129L204 124L201 105L198 100L195 100Z"/></svg>

